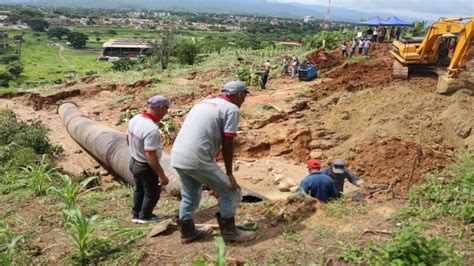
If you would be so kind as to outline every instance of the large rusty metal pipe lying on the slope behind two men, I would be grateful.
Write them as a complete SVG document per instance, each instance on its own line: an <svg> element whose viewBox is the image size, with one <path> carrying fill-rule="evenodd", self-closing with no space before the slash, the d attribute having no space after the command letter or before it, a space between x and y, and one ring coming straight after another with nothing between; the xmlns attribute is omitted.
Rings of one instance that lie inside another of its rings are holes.
<svg viewBox="0 0 474 266"><path fill-rule="evenodd" d="M91 154L102 166L127 183L134 185L129 170L131 160L126 135L112 128L100 125L83 114L75 103L67 102L58 107L58 114L63 120L69 135ZM179 191L179 178L176 170L170 165L170 157L163 153L161 166L169 178L167 191ZM265 197L242 188L244 201L256 202Z"/></svg>

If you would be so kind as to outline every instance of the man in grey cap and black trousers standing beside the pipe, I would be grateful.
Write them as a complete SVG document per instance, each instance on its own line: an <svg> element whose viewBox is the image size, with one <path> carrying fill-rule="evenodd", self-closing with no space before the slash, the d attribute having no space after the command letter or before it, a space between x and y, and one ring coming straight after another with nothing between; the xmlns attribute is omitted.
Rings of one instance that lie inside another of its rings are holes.
<svg viewBox="0 0 474 266"><path fill-rule="evenodd" d="M147 101L148 109L128 122L127 143L132 156L130 171L133 174L132 222L157 222L163 218L153 214L160 199L161 187L168 184L168 177L160 165L163 146L156 123L168 112L171 103L161 95Z"/></svg>

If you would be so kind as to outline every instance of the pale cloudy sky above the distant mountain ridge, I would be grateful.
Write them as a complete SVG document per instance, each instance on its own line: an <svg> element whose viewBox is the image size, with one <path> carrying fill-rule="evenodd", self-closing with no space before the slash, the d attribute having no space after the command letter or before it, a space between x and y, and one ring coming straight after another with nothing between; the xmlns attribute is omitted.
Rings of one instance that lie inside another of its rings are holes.
<svg viewBox="0 0 474 266"><path fill-rule="evenodd" d="M328 0L273 1L325 6L328 4ZM331 5L433 20L440 17L474 16L474 0L331 0Z"/></svg>

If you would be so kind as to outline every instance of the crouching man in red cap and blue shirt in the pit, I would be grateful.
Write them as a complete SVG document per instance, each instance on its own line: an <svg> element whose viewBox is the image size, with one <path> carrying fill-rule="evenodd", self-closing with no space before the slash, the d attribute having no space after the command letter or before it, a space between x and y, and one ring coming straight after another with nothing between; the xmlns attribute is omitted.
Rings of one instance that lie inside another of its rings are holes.
<svg viewBox="0 0 474 266"><path fill-rule="evenodd" d="M321 173L321 162L311 159L306 164L309 175L303 178L300 184L300 194L311 195L324 203L338 197L336 187L332 178Z"/></svg>

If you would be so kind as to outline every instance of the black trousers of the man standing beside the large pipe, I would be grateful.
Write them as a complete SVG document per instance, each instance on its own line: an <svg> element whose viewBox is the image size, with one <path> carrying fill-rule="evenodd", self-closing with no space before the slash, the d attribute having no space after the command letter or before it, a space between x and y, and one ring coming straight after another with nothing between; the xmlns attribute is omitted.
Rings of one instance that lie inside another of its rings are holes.
<svg viewBox="0 0 474 266"><path fill-rule="evenodd" d="M158 177L150 165L134 159L130 161L130 171L135 181L132 215L150 219L161 194Z"/></svg>

